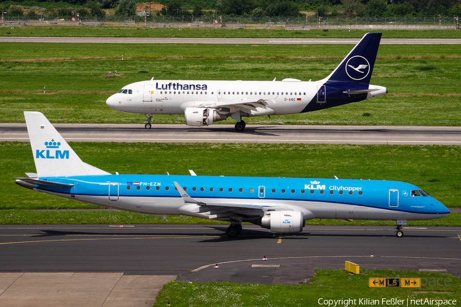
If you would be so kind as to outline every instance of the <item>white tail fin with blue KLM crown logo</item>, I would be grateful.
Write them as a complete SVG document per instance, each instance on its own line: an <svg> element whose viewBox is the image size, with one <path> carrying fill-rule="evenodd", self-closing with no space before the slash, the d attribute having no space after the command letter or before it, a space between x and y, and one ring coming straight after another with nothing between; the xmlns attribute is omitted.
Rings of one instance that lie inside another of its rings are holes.
<svg viewBox="0 0 461 307"><path fill-rule="evenodd" d="M40 112L24 112L38 177L109 174L86 164Z"/></svg>

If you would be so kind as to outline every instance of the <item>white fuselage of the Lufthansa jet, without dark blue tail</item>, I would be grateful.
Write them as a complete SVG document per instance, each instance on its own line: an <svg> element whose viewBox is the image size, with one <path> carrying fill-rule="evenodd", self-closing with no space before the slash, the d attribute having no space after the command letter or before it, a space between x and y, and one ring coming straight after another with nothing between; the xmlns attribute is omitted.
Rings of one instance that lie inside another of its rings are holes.
<svg viewBox="0 0 461 307"><path fill-rule="evenodd" d="M309 103L317 103L319 88L324 81L204 81L204 80L149 80L124 86L119 93L107 99L113 109L138 114L184 114L186 107L205 103L235 102L245 99L263 99L267 108L256 108L243 116L298 114ZM382 86L369 97L386 93ZM131 94L130 94L131 93ZM328 102L328 93L320 97ZM234 108L234 109L233 109ZM238 107L223 107L220 113L233 114Z"/></svg>

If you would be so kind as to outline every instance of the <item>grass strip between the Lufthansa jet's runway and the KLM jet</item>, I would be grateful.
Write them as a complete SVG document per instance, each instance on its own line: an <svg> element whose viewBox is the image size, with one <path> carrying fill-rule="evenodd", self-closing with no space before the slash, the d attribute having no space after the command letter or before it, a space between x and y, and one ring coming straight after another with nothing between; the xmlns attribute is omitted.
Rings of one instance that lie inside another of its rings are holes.
<svg viewBox="0 0 461 307"><path fill-rule="evenodd" d="M460 146L157 143L71 143L71 146L84 162L111 173L168 171L188 175L188 169L193 169L205 176L395 180L422 188L447 207L460 206ZM29 143L2 142L0 157L0 194L4 195L1 208L96 208L17 186L15 177L35 172Z"/></svg>

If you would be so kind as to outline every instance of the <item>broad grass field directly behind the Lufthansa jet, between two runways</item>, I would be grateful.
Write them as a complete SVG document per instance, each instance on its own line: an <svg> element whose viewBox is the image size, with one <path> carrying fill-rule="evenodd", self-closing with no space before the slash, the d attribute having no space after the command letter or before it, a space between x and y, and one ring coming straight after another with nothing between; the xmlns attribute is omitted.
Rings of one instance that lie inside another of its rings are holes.
<svg viewBox="0 0 461 307"><path fill-rule="evenodd" d="M128 83L155 79L319 80L352 46L226 46L3 43L0 122L24 122L23 111L51 122L142 123L143 115L116 112L106 99ZM121 55L124 60L121 60ZM248 123L460 125L461 55L455 45L384 45L372 84L389 94L324 111L256 117ZM117 71L119 78L107 78ZM47 95L43 95L43 87ZM66 118L64 111L67 106ZM364 117L368 113L371 116ZM183 116L155 116L183 123ZM220 123L231 123L228 120Z"/></svg>

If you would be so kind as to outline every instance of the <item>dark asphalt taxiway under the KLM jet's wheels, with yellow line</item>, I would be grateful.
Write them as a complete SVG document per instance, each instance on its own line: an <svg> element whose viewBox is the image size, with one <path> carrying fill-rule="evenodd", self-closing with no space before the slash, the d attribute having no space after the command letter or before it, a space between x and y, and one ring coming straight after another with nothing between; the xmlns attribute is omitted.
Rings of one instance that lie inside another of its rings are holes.
<svg viewBox="0 0 461 307"><path fill-rule="evenodd" d="M0 271L180 274L179 280L296 284L317 268L343 269L349 260L361 269L461 276L461 227L409 226L397 238L387 226L306 226L302 233L281 236L244 225L237 239L227 238L226 227L0 225Z"/></svg>

